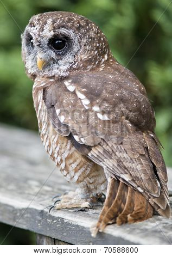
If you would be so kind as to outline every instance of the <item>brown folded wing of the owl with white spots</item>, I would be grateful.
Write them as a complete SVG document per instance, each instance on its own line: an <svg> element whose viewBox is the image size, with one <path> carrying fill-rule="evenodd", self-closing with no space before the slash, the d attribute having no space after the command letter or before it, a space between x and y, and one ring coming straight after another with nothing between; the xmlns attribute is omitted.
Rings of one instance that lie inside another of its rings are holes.
<svg viewBox="0 0 172 256"><path fill-rule="evenodd" d="M141 192L169 216L167 170L154 133L154 111L144 87L128 72L71 76L44 89L44 102L55 129L103 166L107 178Z"/></svg>

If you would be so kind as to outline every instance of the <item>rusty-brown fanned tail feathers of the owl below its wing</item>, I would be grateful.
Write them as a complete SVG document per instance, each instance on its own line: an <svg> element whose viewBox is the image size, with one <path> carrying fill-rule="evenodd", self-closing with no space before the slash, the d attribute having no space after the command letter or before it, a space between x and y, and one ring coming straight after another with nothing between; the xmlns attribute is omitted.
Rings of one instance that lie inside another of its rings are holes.
<svg viewBox="0 0 172 256"><path fill-rule="evenodd" d="M110 179L104 207L97 224L91 228L92 236L102 232L107 224L134 223L152 217L153 208L141 193L123 182Z"/></svg>

